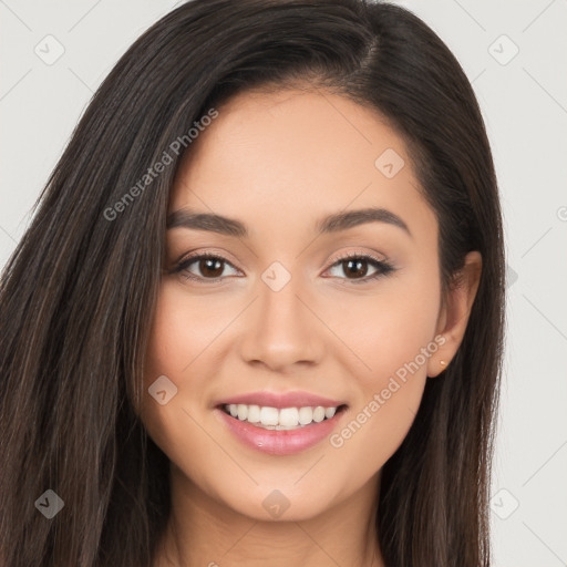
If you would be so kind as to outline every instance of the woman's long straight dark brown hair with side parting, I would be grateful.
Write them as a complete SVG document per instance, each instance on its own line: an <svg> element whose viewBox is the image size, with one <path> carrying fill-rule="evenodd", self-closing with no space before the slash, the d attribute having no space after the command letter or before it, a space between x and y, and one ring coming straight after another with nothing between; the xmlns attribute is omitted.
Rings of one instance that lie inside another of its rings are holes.
<svg viewBox="0 0 567 567"><path fill-rule="evenodd" d="M194 0L146 31L97 90L3 270L2 566L152 565L169 513L168 461L133 408L169 189L196 121L246 89L299 83L378 110L404 137L439 221L445 291L466 252L482 254L464 340L383 467L377 527L389 567L489 565L505 264L471 84L439 37L396 6ZM150 181L165 153L172 163ZM37 508L48 489L64 502L52 519Z"/></svg>

